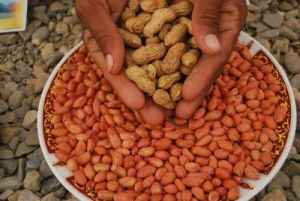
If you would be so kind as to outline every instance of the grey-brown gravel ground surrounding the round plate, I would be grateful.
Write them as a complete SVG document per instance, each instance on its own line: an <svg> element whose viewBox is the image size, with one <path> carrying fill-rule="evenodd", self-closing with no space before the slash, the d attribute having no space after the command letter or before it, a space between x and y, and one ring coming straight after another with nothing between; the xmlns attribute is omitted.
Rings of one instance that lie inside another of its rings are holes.
<svg viewBox="0 0 300 201"><path fill-rule="evenodd" d="M41 2L29 1L25 32L0 35L0 200L77 200L47 166L36 118L43 86L81 27L72 0ZM253 0L249 11L245 30L285 66L300 105L300 1ZM253 200L300 200L299 132L281 171Z"/></svg>

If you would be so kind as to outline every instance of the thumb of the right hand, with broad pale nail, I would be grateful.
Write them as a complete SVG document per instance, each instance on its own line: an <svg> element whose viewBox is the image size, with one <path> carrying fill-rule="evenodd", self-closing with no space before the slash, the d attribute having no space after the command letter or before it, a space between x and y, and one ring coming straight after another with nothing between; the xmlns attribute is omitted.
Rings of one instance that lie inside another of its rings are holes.
<svg viewBox="0 0 300 201"><path fill-rule="evenodd" d="M193 35L198 47L207 54L215 54L221 50L218 29L222 3L223 0L194 1Z"/></svg>

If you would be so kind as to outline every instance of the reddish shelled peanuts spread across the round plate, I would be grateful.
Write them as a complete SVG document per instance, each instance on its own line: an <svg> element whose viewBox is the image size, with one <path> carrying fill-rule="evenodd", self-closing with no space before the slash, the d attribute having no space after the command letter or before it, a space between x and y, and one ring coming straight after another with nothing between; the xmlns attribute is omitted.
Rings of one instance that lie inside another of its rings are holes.
<svg viewBox="0 0 300 201"><path fill-rule="evenodd" d="M236 200L244 178L272 163L279 104L273 67L237 45L189 120L145 123L82 46L53 85L55 155L100 200Z"/></svg>

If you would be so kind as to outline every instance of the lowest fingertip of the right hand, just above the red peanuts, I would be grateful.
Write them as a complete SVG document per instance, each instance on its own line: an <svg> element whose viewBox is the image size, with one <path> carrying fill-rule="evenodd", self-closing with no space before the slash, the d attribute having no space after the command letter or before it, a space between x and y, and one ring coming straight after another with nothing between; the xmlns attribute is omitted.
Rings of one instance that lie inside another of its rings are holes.
<svg viewBox="0 0 300 201"><path fill-rule="evenodd" d="M176 106L176 117L180 119L189 119L201 105L206 91L199 94L192 100L181 100Z"/></svg>

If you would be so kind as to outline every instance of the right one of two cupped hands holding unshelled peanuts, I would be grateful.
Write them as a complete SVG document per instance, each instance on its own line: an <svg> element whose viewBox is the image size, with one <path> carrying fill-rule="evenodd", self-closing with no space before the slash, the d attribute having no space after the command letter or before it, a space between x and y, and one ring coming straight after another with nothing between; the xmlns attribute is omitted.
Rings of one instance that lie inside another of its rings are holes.
<svg viewBox="0 0 300 201"><path fill-rule="evenodd" d="M203 55L184 82L176 115L190 118L222 72L246 21L245 0L191 0L193 35Z"/></svg>

